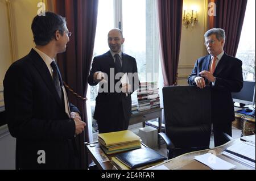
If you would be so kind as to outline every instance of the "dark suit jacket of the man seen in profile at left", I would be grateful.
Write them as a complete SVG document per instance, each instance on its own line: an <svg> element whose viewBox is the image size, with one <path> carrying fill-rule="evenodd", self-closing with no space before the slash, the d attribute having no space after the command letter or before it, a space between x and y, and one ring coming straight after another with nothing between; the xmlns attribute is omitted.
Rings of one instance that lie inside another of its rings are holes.
<svg viewBox="0 0 256 181"><path fill-rule="evenodd" d="M3 86L7 124L16 137L16 169L71 169L75 122L65 113L47 65L34 49L10 66ZM46 153L45 164L38 163L39 150Z"/></svg>

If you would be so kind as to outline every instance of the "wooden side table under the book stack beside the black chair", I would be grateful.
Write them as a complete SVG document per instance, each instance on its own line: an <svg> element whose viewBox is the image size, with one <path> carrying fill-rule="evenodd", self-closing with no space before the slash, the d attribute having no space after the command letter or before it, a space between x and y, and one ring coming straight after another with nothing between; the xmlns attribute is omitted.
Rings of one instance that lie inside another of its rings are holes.
<svg viewBox="0 0 256 181"><path fill-rule="evenodd" d="M154 108L151 110L141 111L133 113L131 115L129 125L142 123L142 126L145 127L145 121L152 119L158 119L158 133L161 132L162 127L162 110L163 108ZM158 136L158 147L160 148L160 137Z"/></svg>

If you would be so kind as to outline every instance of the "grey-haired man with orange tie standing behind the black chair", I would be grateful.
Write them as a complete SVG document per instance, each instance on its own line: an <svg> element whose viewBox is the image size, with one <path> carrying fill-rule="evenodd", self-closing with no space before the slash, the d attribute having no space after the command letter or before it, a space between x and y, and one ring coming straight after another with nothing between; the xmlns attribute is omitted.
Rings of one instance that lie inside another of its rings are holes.
<svg viewBox="0 0 256 181"><path fill-rule="evenodd" d="M214 146L219 146L225 143L223 132L232 136L234 106L231 93L243 87L242 61L224 52L225 31L221 28L208 30L204 38L209 55L196 61L188 83L200 89L206 85L212 87Z"/></svg>

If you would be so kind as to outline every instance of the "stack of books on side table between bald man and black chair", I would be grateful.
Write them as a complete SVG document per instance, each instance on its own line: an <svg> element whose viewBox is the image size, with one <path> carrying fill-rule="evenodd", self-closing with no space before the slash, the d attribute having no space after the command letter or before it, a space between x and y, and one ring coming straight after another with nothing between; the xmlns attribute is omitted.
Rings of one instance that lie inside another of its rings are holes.
<svg viewBox="0 0 256 181"><path fill-rule="evenodd" d="M160 107L159 89L156 82L141 82L133 104L138 105L138 111L146 111Z"/></svg>

